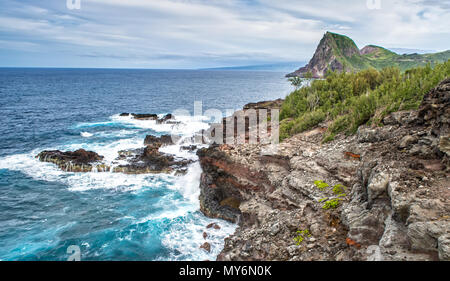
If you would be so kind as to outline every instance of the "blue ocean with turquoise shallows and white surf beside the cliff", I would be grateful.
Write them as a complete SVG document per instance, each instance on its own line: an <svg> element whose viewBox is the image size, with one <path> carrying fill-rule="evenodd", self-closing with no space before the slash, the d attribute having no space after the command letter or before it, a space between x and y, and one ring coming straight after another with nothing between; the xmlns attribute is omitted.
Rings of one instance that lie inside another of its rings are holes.
<svg viewBox="0 0 450 281"><path fill-rule="evenodd" d="M200 165L185 176L66 173L34 156L84 148L114 161L143 147L147 134L189 139L208 126L180 116L177 126L122 112L239 109L285 97L283 73L246 71L0 69L0 260L214 260L235 225L199 211ZM196 160L179 146L164 152ZM218 222L220 230L206 230ZM206 241L211 253L200 249Z"/></svg>

